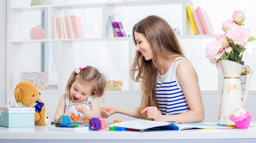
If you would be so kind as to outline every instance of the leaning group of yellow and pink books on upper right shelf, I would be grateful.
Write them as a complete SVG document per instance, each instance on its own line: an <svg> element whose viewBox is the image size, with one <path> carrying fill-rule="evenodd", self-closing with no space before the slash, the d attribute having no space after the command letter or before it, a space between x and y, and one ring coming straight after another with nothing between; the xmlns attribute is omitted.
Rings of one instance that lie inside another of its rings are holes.
<svg viewBox="0 0 256 143"><path fill-rule="evenodd" d="M209 16L204 9L200 7L193 9L190 6L186 8L194 35L214 34Z"/></svg>

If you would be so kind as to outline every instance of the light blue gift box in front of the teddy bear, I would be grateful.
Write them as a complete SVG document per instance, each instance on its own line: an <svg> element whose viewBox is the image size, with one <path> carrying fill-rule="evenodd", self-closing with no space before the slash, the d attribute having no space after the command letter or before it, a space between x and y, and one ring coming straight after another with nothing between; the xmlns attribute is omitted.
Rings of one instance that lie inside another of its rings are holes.
<svg viewBox="0 0 256 143"><path fill-rule="evenodd" d="M3 107L1 111L0 126L8 128L35 126L35 108Z"/></svg>

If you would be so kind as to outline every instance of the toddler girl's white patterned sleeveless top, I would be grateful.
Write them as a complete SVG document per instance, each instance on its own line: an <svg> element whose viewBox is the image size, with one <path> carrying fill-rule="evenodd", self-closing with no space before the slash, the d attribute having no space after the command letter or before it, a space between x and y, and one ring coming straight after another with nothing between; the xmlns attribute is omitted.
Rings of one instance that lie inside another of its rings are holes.
<svg viewBox="0 0 256 143"><path fill-rule="evenodd" d="M85 109L87 110L91 110L90 108L90 104L92 102L92 100L94 99L94 97L92 96L89 96L88 99L87 99L87 102L86 103L82 103L82 105L85 107ZM70 104L70 99L69 97L65 94L65 112L73 112L75 113L75 116L80 116L81 118L77 121L73 121L71 120L71 122L84 122L86 119L88 119L87 117L85 117L82 113L78 112L76 110L76 107L78 104L74 104L74 105L69 105Z"/></svg>

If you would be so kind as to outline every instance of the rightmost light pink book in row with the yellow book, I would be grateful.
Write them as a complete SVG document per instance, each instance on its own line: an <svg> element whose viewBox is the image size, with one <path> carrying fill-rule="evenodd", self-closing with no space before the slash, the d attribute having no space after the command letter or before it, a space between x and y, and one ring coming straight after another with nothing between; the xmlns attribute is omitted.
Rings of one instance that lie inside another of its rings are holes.
<svg viewBox="0 0 256 143"><path fill-rule="evenodd" d="M201 21L201 24L203 26L205 34L214 34L213 27L211 26L211 22L210 22L207 12L200 7L197 7L196 10L197 10L199 19Z"/></svg>

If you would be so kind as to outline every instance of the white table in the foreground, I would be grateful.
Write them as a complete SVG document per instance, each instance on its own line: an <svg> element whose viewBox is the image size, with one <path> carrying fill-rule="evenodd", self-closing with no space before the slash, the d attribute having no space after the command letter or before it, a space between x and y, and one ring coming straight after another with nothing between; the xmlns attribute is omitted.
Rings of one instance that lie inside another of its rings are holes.
<svg viewBox="0 0 256 143"><path fill-rule="evenodd" d="M255 124L255 123L253 123ZM248 142L256 143L256 127L248 129L187 129L187 130L160 130L148 132L134 131L107 131L89 130L83 132L59 132L49 131L45 126L35 126L33 128L5 128L0 127L0 143L79 143L82 142L103 142L104 143L126 143L126 142L146 142L162 143L185 141L195 143L220 143L220 142Z"/></svg>

